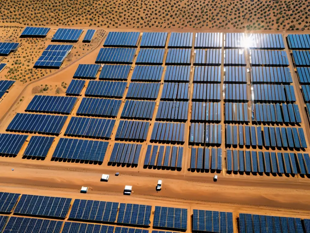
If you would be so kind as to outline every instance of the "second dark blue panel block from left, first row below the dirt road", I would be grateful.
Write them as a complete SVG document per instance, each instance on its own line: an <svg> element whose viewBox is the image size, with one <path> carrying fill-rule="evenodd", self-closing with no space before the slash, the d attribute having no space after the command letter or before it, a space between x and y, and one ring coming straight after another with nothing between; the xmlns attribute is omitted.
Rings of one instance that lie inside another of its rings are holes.
<svg viewBox="0 0 310 233"><path fill-rule="evenodd" d="M14 209L14 213L64 219L69 212L71 200L71 198L23 194Z"/></svg>

